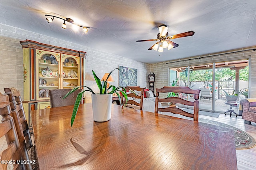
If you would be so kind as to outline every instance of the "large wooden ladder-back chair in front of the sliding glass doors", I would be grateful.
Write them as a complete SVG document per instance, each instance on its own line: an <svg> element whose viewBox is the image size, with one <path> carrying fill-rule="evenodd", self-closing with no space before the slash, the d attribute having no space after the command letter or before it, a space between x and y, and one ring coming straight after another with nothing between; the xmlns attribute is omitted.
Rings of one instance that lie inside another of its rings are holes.
<svg viewBox="0 0 256 170"><path fill-rule="evenodd" d="M194 94L194 102L184 100L179 97L170 97L170 98L159 98L159 93L168 93L168 92L174 92L174 93L183 93L183 94ZM192 117L194 121L198 121L198 111L199 111L199 94L200 90L192 90L188 86L164 86L163 88L156 88L156 105L155 105L155 113L158 114L158 111L162 112L171 112L174 114L180 114L184 115L186 117ZM183 104L186 106L194 106L194 113L188 113L178 107L166 107L166 108L158 108L158 102L170 102L173 104Z"/></svg>

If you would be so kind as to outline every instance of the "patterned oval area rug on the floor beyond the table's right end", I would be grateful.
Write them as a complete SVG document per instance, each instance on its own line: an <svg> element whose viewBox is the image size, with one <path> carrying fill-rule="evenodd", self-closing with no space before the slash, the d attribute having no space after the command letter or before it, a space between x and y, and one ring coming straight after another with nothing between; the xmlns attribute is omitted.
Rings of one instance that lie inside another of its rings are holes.
<svg viewBox="0 0 256 170"><path fill-rule="evenodd" d="M218 126L228 127L228 128L234 129L236 149L249 149L249 148L252 148L256 145L256 141L251 135L249 135L245 131L242 131L242 130L236 128L236 127L227 125L225 123L220 123L220 122L217 122L217 121L212 121L212 120L202 119L202 118L199 118L198 121L203 122L203 123L208 123L208 124L212 124L212 125L218 125Z"/></svg>

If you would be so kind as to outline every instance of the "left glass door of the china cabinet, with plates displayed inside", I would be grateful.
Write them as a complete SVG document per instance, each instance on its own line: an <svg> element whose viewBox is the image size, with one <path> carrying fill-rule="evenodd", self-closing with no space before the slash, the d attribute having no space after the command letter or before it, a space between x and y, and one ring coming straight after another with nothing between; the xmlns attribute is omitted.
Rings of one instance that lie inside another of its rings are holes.
<svg viewBox="0 0 256 170"><path fill-rule="evenodd" d="M60 88L60 53L36 50L36 99L49 99L49 90Z"/></svg>

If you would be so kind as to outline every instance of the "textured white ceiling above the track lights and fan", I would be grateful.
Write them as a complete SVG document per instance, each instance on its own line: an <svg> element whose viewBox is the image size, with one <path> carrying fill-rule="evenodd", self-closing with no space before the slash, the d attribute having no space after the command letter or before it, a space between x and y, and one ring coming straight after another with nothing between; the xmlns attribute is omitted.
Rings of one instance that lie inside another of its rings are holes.
<svg viewBox="0 0 256 170"><path fill-rule="evenodd" d="M256 45L256 0L1 0L0 23L85 45L144 63ZM63 20L46 21L45 14L72 18L91 27L87 33L62 29ZM173 39L178 47L148 51L158 26L169 35L193 30L192 37Z"/></svg>

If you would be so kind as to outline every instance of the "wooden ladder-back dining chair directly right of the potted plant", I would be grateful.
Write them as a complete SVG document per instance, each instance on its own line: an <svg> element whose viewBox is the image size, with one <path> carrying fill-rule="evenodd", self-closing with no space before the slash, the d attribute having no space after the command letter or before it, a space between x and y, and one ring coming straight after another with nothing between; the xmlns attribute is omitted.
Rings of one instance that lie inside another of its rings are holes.
<svg viewBox="0 0 256 170"><path fill-rule="evenodd" d="M122 98L121 98L122 105L124 105L125 103L134 104L136 106L140 106L140 110L142 110L145 88L140 88L140 86L126 86L125 90L128 97L128 101L126 103L126 99L122 95ZM133 90L133 91L135 90L134 92L136 94L129 92L129 90ZM140 102L138 102L138 100L135 100L135 99L140 99Z"/></svg>

